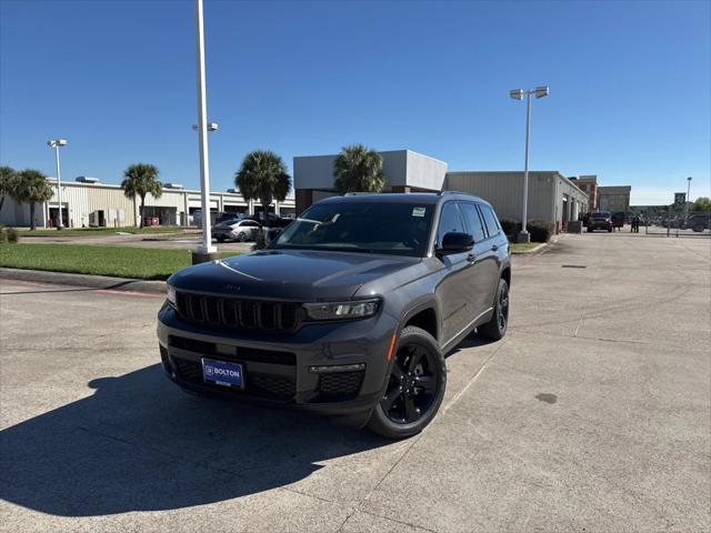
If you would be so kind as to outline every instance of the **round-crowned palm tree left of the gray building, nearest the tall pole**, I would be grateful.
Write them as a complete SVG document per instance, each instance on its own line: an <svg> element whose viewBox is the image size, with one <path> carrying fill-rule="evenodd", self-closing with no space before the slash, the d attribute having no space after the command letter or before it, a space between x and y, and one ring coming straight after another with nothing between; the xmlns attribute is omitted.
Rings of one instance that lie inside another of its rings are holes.
<svg viewBox="0 0 711 533"><path fill-rule="evenodd" d="M262 204L267 220L272 200L283 202L287 198L291 189L291 177L277 153L271 150L254 150L244 155L242 167L234 174L234 184L244 201L258 200Z"/></svg>

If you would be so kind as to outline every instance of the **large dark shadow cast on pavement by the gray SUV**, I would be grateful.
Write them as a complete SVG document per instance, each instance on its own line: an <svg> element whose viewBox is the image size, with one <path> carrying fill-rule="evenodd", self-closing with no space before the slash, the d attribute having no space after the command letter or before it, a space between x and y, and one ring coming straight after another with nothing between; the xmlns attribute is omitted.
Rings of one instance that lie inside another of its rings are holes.
<svg viewBox="0 0 711 533"><path fill-rule="evenodd" d="M287 485L381 446L328 419L181 393L151 365L0 432L0 497L64 516L171 510Z"/></svg>

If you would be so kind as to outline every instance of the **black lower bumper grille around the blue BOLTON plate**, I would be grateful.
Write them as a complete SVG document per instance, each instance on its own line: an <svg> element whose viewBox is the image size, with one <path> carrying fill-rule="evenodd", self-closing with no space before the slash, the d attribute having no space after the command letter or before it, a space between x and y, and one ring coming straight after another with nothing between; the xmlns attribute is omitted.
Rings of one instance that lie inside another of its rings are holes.
<svg viewBox="0 0 711 533"><path fill-rule="evenodd" d="M229 389L202 380L202 365L198 361L190 361L182 358L172 358L176 363L178 375L197 385L208 386L220 391L232 392L236 394L249 394L251 396L266 398L271 400L291 400L297 393L297 385L293 380L279 375L254 374L249 371L244 372L247 382L244 390Z"/></svg>

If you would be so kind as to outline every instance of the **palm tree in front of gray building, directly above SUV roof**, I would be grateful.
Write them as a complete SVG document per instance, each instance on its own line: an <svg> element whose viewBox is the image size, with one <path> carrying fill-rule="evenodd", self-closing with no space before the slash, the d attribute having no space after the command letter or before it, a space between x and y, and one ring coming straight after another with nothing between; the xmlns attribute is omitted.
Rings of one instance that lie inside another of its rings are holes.
<svg viewBox="0 0 711 533"><path fill-rule="evenodd" d="M380 192L385 183L382 174L382 158L362 144L343 147L333 162L336 189L347 192Z"/></svg>

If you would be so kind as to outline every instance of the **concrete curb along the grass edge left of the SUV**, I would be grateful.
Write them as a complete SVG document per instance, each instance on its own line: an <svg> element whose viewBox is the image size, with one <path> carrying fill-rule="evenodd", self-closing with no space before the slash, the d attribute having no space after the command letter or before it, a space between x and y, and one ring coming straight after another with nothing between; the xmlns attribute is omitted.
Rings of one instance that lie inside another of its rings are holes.
<svg viewBox="0 0 711 533"><path fill-rule="evenodd" d="M56 283L90 289L166 294L164 281L131 280L108 275L70 274L67 272L0 268L0 280L33 281L38 283Z"/></svg>

